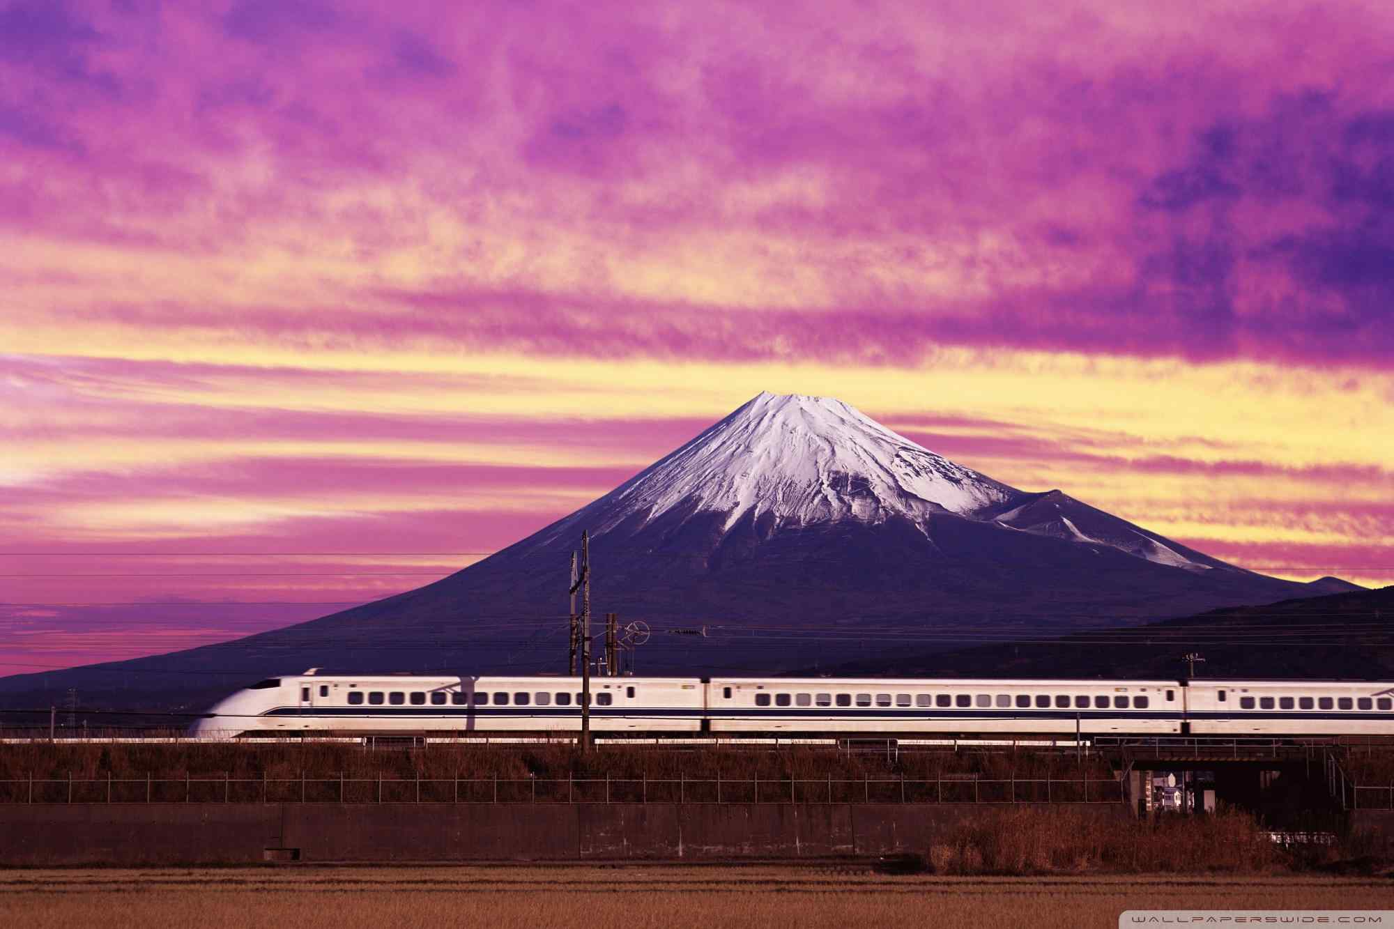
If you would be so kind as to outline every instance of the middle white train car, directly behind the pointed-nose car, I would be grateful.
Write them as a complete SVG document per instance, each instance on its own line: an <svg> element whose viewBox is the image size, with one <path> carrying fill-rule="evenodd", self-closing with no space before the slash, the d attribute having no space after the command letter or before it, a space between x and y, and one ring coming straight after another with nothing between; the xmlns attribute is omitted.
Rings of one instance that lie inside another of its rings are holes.
<svg viewBox="0 0 1394 929"><path fill-rule="evenodd" d="M1182 731L1177 681L714 678L712 732Z"/></svg>

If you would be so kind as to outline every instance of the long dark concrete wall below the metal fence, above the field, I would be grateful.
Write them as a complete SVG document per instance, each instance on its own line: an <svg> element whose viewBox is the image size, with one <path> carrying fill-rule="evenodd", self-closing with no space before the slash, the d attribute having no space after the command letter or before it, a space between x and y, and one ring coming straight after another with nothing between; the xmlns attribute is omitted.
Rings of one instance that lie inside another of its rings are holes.
<svg viewBox="0 0 1394 929"><path fill-rule="evenodd" d="M732 859L924 851L974 803L0 805L0 866ZM1122 803L1075 806L1126 817Z"/></svg>

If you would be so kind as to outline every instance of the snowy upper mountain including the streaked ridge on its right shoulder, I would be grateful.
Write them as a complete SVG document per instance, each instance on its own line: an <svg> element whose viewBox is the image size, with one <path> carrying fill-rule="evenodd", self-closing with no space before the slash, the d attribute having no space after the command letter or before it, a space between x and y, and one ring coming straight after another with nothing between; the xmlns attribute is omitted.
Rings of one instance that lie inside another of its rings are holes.
<svg viewBox="0 0 1394 929"><path fill-rule="evenodd" d="M742 520L779 531L899 519L927 537L933 518L953 515L1158 565L1238 571L1059 491L1025 492L956 464L842 400L775 393L754 398L535 541L581 529L592 537L622 526L643 533L697 515L718 534Z"/></svg>

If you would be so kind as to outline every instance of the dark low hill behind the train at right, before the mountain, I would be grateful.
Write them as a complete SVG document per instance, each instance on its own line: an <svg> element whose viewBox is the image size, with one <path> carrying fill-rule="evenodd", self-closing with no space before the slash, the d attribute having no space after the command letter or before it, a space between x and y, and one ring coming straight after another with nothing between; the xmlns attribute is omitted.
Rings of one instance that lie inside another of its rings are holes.
<svg viewBox="0 0 1394 929"><path fill-rule="evenodd" d="M1394 586L1211 610L1129 629L849 661L821 674L942 678L1196 677L1394 681Z"/></svg>

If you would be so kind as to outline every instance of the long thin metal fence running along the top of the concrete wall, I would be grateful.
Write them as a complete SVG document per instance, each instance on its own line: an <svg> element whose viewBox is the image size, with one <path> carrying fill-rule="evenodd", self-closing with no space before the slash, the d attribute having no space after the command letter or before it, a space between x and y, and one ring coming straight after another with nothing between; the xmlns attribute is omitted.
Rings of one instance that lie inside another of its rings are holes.
<svg viewBox="0 0 1394 929"><path fill-rule="evenodd" d="M183 777L0 781L0 803L1119 803L1121 780Z"/></svg>

